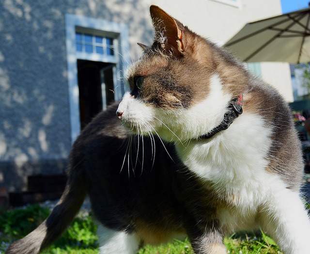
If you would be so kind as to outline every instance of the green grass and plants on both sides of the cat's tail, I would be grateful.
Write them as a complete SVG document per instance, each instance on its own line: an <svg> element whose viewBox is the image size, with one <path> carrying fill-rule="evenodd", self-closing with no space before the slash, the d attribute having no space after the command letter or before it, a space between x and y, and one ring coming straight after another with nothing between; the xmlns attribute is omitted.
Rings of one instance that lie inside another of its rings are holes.
<svg viewBox="0 0 310 254"><path fill-rule="evenodd" d="M0 254L8 245L26 236L49 215L48 208L39 205L26 206L24 209L2 211L0 213ZM96 226L92 217L77 217L71 226L58 238L45 254L97 253Z"/></svg>

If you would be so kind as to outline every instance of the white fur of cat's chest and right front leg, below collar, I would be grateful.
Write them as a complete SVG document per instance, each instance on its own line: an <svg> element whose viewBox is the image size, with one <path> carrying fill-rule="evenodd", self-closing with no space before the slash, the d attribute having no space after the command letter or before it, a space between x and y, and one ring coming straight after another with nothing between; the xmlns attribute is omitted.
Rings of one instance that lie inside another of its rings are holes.
<svg viewBox="0 0 310 254"><path fill-rule="evenodd" d="M176 148L190 170L231 202L219 211L227 233L262 226L286 254L310 253L310 222L298 193L265 171L270 134L262 117L244 113L212 139Z"/></svg>

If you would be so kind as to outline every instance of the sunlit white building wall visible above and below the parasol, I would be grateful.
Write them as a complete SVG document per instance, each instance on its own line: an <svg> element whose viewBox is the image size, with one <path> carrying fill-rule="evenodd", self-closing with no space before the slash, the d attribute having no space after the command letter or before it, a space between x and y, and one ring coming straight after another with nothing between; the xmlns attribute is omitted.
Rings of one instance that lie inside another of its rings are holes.
<svg viewBox="0 0 310 254"><path fill-rule="evenodd" d="M221 0L147 0L179 19L191 30L224 44L246 23L281 15L280 0L240 0L240 7ZM276 87L287 101L293 101L288 63L261 63L261 77Z"/></svg>

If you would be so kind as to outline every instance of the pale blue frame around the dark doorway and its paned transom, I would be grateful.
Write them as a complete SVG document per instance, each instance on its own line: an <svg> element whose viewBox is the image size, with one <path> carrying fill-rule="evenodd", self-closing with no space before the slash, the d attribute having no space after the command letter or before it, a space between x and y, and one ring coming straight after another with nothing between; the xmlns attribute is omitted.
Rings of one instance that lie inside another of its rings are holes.
<svg viewBox="0 0 310 254"><path fill-rule="evenodd" d="M65 31L71 143L73 143L81 131L79 115L78 59L115 63L114 96L115 100L121 100L124 94L124 84L122 83L121 73L124 73L127 69L131 58L129 54L128 26L126 24L111 22L104 19L66 14ZM78 52L76 50L76 32L85 31L87 33L98 33L116 39L113 43L114 55L107 56Z"/></svg>

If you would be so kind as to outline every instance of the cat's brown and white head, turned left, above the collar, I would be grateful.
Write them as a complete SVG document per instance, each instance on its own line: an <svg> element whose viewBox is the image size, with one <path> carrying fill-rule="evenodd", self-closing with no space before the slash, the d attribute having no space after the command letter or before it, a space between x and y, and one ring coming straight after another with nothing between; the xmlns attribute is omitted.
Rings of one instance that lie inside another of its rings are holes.
<svg viewBox="0 0 310 254"><path fill-rule="evenodd" d="M154 43L140 44L144 54L127 73L130 91L117 115L134 133L197 139L222 121L229 102L245 89L246 72L159 7L152 5L150 13Z"/></svg>

